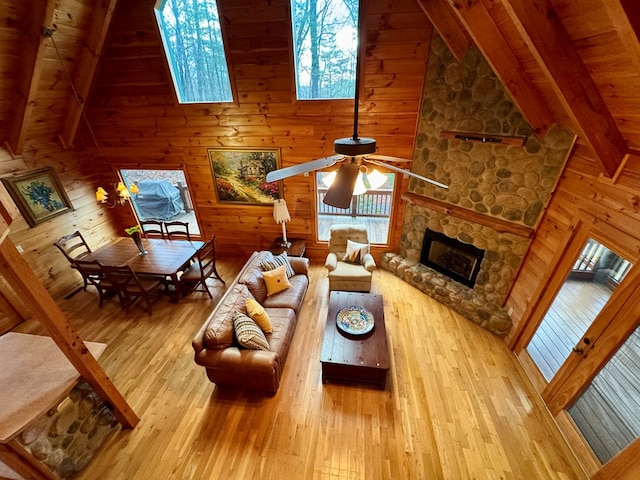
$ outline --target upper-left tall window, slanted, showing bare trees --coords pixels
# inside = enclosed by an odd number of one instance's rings
[[[231,102],[216,0],[160,0],[155,13],[178,101]]]

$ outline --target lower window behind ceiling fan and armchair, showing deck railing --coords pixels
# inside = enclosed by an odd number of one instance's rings
[[[329,240],[331,225],[352,224],[367,227],[371,244],[388,244],[395,174],[380,173],[378,175],[386,177],[380,179],[369,178],[367,175],[358,178],[349,208],[336,208],[322,201],[335,178],[335,173],[335,170],[316,172],[318,241]]]

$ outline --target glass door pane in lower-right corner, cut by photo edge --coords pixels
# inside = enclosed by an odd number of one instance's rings
[[[640,327],[568,409],[602,464],[640,437]]]

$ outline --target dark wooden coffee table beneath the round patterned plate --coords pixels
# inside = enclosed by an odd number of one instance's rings
[[[363,307],[373,314],[375,326],[371,332],[350,335],[337,327],[337,313],[349,306]],[[323,382],[357,382],[385,388],[389,371],[389,348],[382,296],[359,292],[331,292],[320,362]]]

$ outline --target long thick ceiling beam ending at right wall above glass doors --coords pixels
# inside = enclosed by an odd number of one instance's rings
[[[553,5],[548,0],[501,3],[603,173],[612,177],[627,152],[626,142]]]

